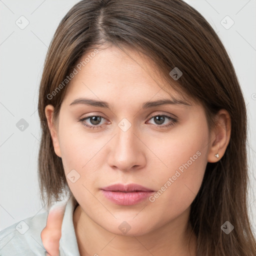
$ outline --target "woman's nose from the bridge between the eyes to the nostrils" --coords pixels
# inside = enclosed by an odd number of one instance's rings
[[[145,163],[143,143],[135,135],[135,125],[123,118],[116,127],[116,133],[108,164],[121,170],[128,170],[134,165],[143,165]]]

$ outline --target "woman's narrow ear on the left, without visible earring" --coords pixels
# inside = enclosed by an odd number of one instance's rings
[[[54,110],[54,107],[52,105],[46,105],[44,109],[44,113],[47,118],[47,123],[50,130],[50,136],[52,139],[54,151],[57,156],[61,157],[59,141],[57,136],[57,129],[56,129],[56,125],[53,122],[53,110]]]

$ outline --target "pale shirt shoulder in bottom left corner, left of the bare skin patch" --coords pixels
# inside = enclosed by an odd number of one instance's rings
[[[18,221],[0,231],[0,255],[44,255],[41,231],[46,225],[48,212]]]

